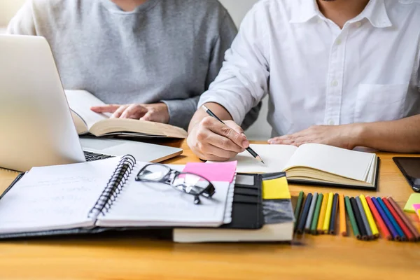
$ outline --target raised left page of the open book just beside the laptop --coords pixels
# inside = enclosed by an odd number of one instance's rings
[[[65,92],[70,109],[84,120],[88,130],[100,120],[109,118],[110,114],[108,113],[94,113],[94,111],[90,110],[92,106],[105,105],[104,102],[94,97],[90,92],[85,90],[66,90]]]

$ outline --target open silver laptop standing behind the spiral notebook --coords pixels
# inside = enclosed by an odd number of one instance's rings
[[[0,167],[27,171],[126,154],[160,162],[182,153],[117,139],[81,139],[81,144],[48,42],[0,35]]]

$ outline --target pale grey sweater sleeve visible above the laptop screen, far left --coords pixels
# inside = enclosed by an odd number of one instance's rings
[[[16,13],[12,20],[10,20],[7,33],[17,35],[36,35],[32,1],[25,1],[22,8],[20,8],[18,13]]]

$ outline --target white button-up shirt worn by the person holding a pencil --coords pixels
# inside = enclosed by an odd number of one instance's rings
[[[370,0],[340,29],[316,0],[261,0],[199,108],[236,123],[269,94],[273,136],[420,113],[420,0]]]

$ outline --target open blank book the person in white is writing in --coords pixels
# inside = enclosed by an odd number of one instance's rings
[[[231,159],[238,161],[237,172],[286,172],[288,180],[293,183],[377,188],[379,158],[374,153],[321,144],[304,144],[299,148],[251,144],[251,148],[261,156],[265,165],[245,151]]]

